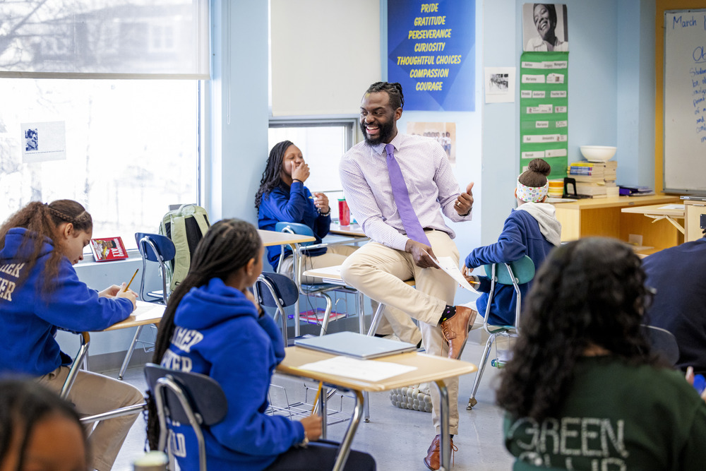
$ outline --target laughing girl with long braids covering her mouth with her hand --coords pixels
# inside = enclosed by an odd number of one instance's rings
[[[275,230],[277,222],[298,222],[313,230],[316,244],[328,234],[331,225],[331,208],[324,193],[311,193],[304,181],[309,178],[309,165],[304,162],[301,150],[291,141],[275,144],[270,151],[260,189],[255,196],[258,210],[258,227]],[[269,246],[268,261],[277,273],[294,279],[292,250],[285,246],[285,257],[280,264],[279,245]],[[341,265],[357,247],[332,245],[308,251],[302,266],[323,268]],[[321,283],[321,278],[305,277],[305,283]]]

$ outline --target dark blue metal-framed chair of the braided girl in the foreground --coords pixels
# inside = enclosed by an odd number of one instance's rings
[[[204,374],[172,370],[153,363],[145,364],[145,379],[157,405],[160,450],[172,458],[172,450],[167,446],[167,417],[172,422],[190,424],[198,441],[199,469],[205,471],[206,447],[201,427],[217,424],[228,412],[228,400],[220,384]]]

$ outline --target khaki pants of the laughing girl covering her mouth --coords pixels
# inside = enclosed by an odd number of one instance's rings
[[[304,272],[313,268],[326,268],[330,266],[343,265],[346,258],[350,254],[357,251],[357,249],[359,249],[359,247],[352,245],[328,246],[326,248],[326,253],[323,255],[315,257],[304,256],[304,263],[301,264],[303,269],[301,271]],[[288,256],[282,260],[282,263],[280,263],[280,266],[277,268],[277,272],[294,279],[294,257]],[[322,283],[322,280],[321,278],[304,276],[301,277],[301,282],[308,285],[313,285]],[[372,304],[374,313],[378,307],[378,302],[373,300]],[[421,332],[419,331],[417,325],[412,322],[412,319],[410,319],[407,314],[399,309],[395,309],[390,306],[385,306],[383,317],[381,318],[376,332],[383,335],[394,333],[397,335],[397,338],[403,342],[409,342],[414,345],[417,345],[419,340],[421,340]]]

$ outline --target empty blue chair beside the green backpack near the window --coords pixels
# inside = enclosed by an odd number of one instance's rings
[[[146,302],[156,302],[158,304],[167,304],[169,292],[167,291],[167,262],[174,260],[177,250],[174,248],[174,243],[169,237],[164,237],[160,234],[150,234],[147,232],[136,232],[135,241],[137,248],[142,256],[142,276],[140,278],[140,299]],[[162,290],[150,291],[145,293],[145,273],[147,272],[147,262],[157,262],[160,265],[160,275],[162,276]],[[123,364],[118,372],[118,379],[122,379],[125,370],[128,368],[130,359],[132,358],[133,350],[137,342],[147,345],[153,345],[152,342],[143,342],[139,340],[140,334],[144,326],[138,326],[133,335],[133,340],[128,347],[128,351],[123,359]]]

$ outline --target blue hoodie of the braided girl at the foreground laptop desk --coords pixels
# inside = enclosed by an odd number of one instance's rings
[[[304,440],[300,422],[265,414],[270,379],[284,358],[282,335],[272,318],[258,318],[253,303],[220,278],[181,299],[162,366],[208,375],[228,398],[225,419],[203,430],[209,470],[263,470]],[[179,467],[198,469],[191,427],[172,424],[172,431],[185,436],[186,450],[175,453]],[[179,439],[174,443],[179,446]]]

